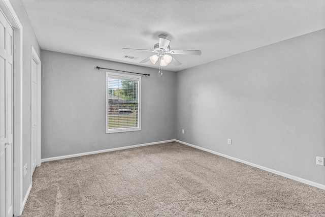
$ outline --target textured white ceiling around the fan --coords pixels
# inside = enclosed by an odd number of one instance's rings
[[[22,0],[42,49],[139,62],[166,33],[180,71],[325,28],[325,0]],[[139,59],[126,59],[132,55]]]

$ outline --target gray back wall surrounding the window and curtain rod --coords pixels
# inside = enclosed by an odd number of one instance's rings
[[[106,71],[142,76],[141,131],[105,133]],[[174,72],[42,50],[42,159],[175,138]]]

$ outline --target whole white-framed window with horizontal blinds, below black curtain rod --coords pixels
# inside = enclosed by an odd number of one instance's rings
[[[141,77],[106,72],[106,133],[141,130]]]

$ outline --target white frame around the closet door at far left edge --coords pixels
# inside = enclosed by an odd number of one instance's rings
[[[0,9],[14,29],[14,142],[13,142],[13,213],[19,216],[22,213],[22,54],[23,54],[23,28],[9,0],[0,0]]]

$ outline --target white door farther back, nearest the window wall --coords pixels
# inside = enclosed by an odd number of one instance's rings
[[[35,59],[32,59],[31,70],[31,174],[34,172],[37,166],[37,63]]]

